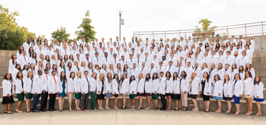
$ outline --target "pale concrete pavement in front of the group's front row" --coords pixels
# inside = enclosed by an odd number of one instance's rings
[[[160,111],[160,110],[85,110],[40,113],[0,113],[2,125],[65,125],[65,124],[108,124],[108,125],[256,125],[265,124],[265,116],[246,116],[203,111]],[[33,122],[36,121],[36,122]]]

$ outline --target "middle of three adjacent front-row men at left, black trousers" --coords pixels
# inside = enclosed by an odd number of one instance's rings
[[[41,112],[46,112],[46,104],[47,104],[47,98],[48,98],[48,73],[49,70],[46,68],[44,69],[44,74],[41,76],[41,83],[40,87],[42,90],[42,98],[41,98]]]

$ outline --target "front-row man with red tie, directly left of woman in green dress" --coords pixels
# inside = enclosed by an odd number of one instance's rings
[[[52,71],[52,76],[48,78],[48,93],[49,93],[49,109],[48,111],[56,111],[54,108],[55,98],[56,98],[56,79],[55,77],[56,72]]]

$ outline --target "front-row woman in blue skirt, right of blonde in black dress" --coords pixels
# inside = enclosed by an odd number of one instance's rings
[[[105,79],[105,109],[111,109],[108,107],[109,99],[112,97],[112,74],[109,72],[107,73],[107,77]]]

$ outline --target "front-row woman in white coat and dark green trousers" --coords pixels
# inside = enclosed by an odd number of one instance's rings
[[[95,103],[96,103],[96,88],[97,88],[97,73],[93,72],[91,73],[92,75],[90,76],[90,109],[95,108]]]

